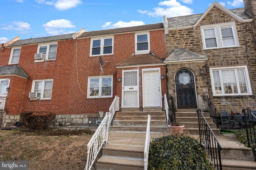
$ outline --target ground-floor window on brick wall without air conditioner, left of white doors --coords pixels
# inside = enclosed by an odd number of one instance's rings
[[[88,78],[88,98],[112,97],[112,76],[98,76]]]

